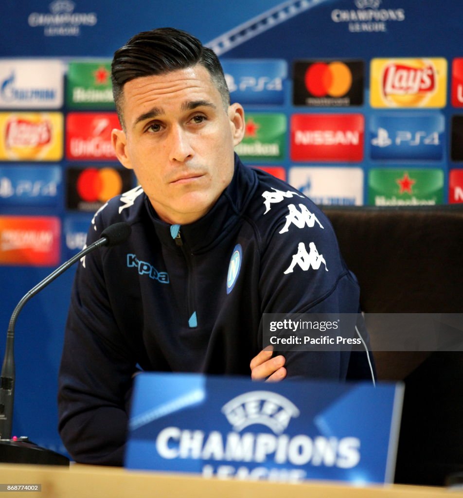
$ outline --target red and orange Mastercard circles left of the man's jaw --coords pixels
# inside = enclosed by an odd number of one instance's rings
[[[77,193],[87,202],[106,202],[122,192],[122,179],[114,168],[88,168],[77,178]]]

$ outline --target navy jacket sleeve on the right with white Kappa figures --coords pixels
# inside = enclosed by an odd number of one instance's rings
[[[278,210],[279,217],[264,244],[262,313],[358,313],[358,283],[343,261],[329,220],[310,201],[303,201],[304,207],[301,204]],[[365,328],[358,326],[368,344]],[[366,351],[275,351],[278,353],[286,359],[287,378],[371,380]]]

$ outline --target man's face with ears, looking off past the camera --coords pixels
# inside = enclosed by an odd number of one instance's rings
[[[134,170],[158,216],[171,224],[204,216],[232,180],[242,107],[225,109],[209,72],[196,65],[127,82],[121,110],[117,157]]]

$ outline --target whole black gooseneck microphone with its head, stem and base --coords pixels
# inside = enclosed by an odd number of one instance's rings
[[[14,326],[16,324],[16,319],[19,312],[23,308],[24,304],[37,292],[44,289],[49,283],[53,282],[61,273],[64,273],[70,266],[72,266],[76,261],[87,255],[89,252],[94,251],[103,246],[113,247],[118,244],[125,242],[131,232],[130,225],[127,223],[115,223],[110,225],[108,228],[103,230],[101,233],[101,238],[90,244],[90,246],[82,249],[79,253],[73,256],[71,259],[63,263],[59,268],[56,268],[50,275],[45,277],[40,283],[33,287],[14,308],[8,325],[8,331],[6,333],[6,347],[5,355],[3,357],[3,365],[1,368],[0,377],[0,462],[13,462],[13,463],[38,463],[45,465],[69,465],[69,460],[63,455],[40,448],[33,443],[30,443],[27,438],[20,438],[20,440],[11,439],[11,429],[12,429],[12,418],[13,418],[13,400],[14,400]],[[8,451],[4,451],[5,448],[2,445],[8,445]],[[28,456],[28,447],[32,450],[40,450],[44,452],[43,455],[38,456],[37,451],[33,451]],[[15,450],[15,448],[19,448]],[[67,462],[57,462],[53,461],[53,455],[46,456],[45,453],[56,455],[65,459]],[[37,461],[40,460],[40,461]],[[42,461],[43,460],[43,461]],[[50,461],[52,460],[52,461]],[[58,459],[60,460],[60,459]]]

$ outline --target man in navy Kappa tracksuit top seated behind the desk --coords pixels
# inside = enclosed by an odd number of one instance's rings
[[[262,350],[263,313],[356,313],[359,289],[328,219],[234,155],[244,113],[220,63],[171,28],[116,51],[120,162],[139,187],[95,215],[124,244],[79,264],[59,377],[59,429],[79,462],[121,465],[134,373],[371,378],[367,353]],[[367,341],[367,337],[364,337]]]

